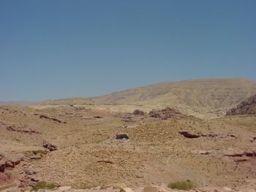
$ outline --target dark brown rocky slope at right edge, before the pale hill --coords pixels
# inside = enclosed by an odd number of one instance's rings
[[[228,110],[226,115],[254,115],[256,114],[256,94],[238,104],[237,107]]]

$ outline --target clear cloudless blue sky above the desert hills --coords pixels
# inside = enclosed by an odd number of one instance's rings
[[[255,10],[255,0],[0,0],[0,100],[256,80]]]

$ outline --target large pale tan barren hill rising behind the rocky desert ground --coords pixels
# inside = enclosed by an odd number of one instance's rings
[[[39,104],[121,105],[121,110],[128,107],[130,110],[140,108],[146,111],[173,107],[187,115],[216,117],[225,115],[231,107],[255,93],[256,82],[252,80],[202,79],[161,82],[105,96],[48,100]]]

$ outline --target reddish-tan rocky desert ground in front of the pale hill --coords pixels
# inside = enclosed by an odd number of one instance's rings
[[[197,191],[256,188],[255,115],[1,106],[0,130],[2,191],[31,191],[39,181],[74,190],[182,180]]]

